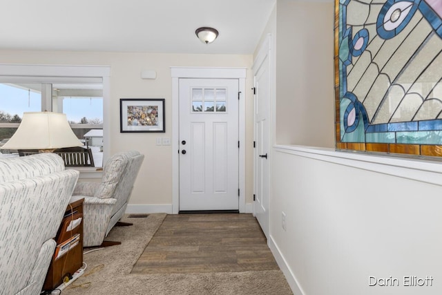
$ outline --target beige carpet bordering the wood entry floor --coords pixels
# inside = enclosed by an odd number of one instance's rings
[[[131,274],[166,214],[124,218],[131,227],[115,227],[106,240],[122,245],[84,255],[84,275],[63,290],[66,295],[108,294],[292,294],[280,270],[204,274]],[[87,251],[87,250],[86,250]]]

